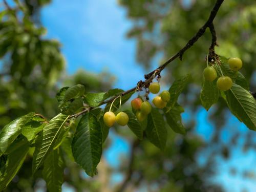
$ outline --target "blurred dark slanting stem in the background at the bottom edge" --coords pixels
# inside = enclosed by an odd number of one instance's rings
[[[127,170],[125,179],[123,180],[120,187],[116,190],[116,192],[123,191],[126,188],[127,184],[130,182],[130,180],[132,179],[135,150],[139,146],[139,143],[140,143],[140,140],[138,140],[138,139],[133,142],[131,156],[130,156],[130,160],[129,160],[129,166],[128,166],[128,170]]]

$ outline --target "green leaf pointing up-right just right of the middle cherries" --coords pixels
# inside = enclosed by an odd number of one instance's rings
[[[178,100],[179,95],[186,87],[190,75],[186,75],[180,79],[174,81],[173,85],[169,89],[170,100],[166,104],[166,108],[172,108]]]

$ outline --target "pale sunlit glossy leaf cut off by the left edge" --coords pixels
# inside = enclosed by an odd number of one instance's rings
[[[0,132],[0,151],[5,153],[7,147],[22,133],[22,126],[24,126],[35,113],[29,113],[22,117],[19,117],[9,124],[5,125]]]

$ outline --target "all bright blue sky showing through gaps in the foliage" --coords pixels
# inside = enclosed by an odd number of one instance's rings
[[[135,61],[136,42],[125,38],[131,22],[116,0],[73,0],[72,3],[70,0],[53,0],[42,10],[41,16],[42,24],[48,29],[47,37],[58,39],[63,45],[62,53],[67,60],[69,74],[78,69],[93,73],[107,70],[117,78],[115,87],[124,90],[134,87],[143,79],[146,71]],[[186,116],[189,113],[184,114]],[[198,134],[207,140],[214,127],[207,121],[205,110],[198,111],[197,121]],[[236,118],[231,118],[228,123],[238,124],[242,132],[247,130]],[[223,135],[225,139],[225,133]],[[118,166],[118,155],[129,152],[129,143],[114,133],[111,133],[111,137],[114,139],[112,147],[105,151],[104,156],[111,166]],[[250,168],[255,162],[253,153],[249,151],[243,154],[240,148],[236,148],[231,160],[218,159],[221,172],[216,182],[221,182],[227,191],[236,192],[244,188],[248,192],[256,191],[255,181],[242,179],[239,175],[231,177],[229,174],[232,166],[241,165],[239,170]],[[116,177],[118,180],[121,176]]]

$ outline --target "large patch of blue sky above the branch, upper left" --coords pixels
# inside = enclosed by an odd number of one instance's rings
[[[143,77],[135,62],[135,40],[125,39],[131,24],[115,0],[54,0],[42,11],[48,37],[62,43],[69,74],[78,69],[115,74],[116,87],[129,89]],[[129,81],[127,81],[129,79]]]

